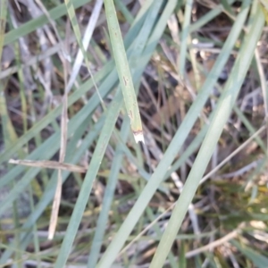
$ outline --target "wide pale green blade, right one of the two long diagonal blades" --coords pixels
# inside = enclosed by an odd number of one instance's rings
[[[249,2],[246,3],[247,6],[249,4]],[[247,8],[244,11],[247,13]],[[221,136],[223,127],[229,118],[233,105],[235,104],[236,97],[239,94],[239,88],[245,80],[247,70],[255,52],[256,43],[262,33],[263,27],[264,14],[259,10],[258,14],[255,16],[255,21],[253,22],[250,32],[243,42],[239,57],[233,67],[232,75],[224,88],[216,107],[214,118],[205,136],[205,140],[188,175],[188,179],[180,194],[180,198],[174,207],[172,217],[163,233],[163,237],[156,249],[150,267],[163,267],[165,258],[172,247],[174,237],[178,233],[180,224],[187,213],[188,205],[195,195],[199,181],[202,179],[205,172],[206,165],[214,153],[214,147]]]

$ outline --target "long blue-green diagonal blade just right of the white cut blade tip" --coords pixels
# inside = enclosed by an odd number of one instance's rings
[[[158,22],[159,24],[165,23],[170,17],[175,5],[176,1],[169,1],[166,10],[163,11],[163,17]],[[205,105],[205,101],[209,96],[214,84],[216,83],[218,77],[220,76],[222,69],[225,63],[228,60],[231,49],[234,46],[237,38],[239,37],[240,30],[244,26],[244,21],[247,18],[247,11],[243,13],[239,13],[237,21],[235,22],[235,26],[231,29],[230,35],[227,38],[223,48],[222,53],[218,56],[216,63],[214,63],[214,68],[208,75],[207,79],[203,87],[200,89],[200,93],[197,96],[195,103],[190,107],[184,121],[180,124],[180,129],[177,130],[176,135],[172,139],[170,146],[168,147],[163,159],[158,164],[154,174],[151,179],[148,181],[147,186],[144,188],[143,192],[138,197],[136,204],[132,207],[130,214],[126,218],[126,220],[122,223],[121,229],[117,232],[113,241],[106,249],[105,254],[103,255],[101,261],[98,264],[99,267],[107,267],[108,265],[113,263],[116,255],[123,247],[124,242],[129,237],[131,230],[135,227],[136,222],[138,222],[139,216],[145,210],[148,202],[151,197],[153,197],[156,188],[163,180],[163,176],[165,172],[169,169],[174,157],[180,151],[181,146],[183,145],[185,139],[188,137],[188,133],[194,125],[195,121],[197,121],[197,116]],[[163,21],[161,21],[163,20]],[[158,40],[157,36],[162,34],[160,30],[161,26],[156,25],[155,31],[148,42],[147,49],[144,54],[147,54],[147,50],[154,49],[153,44],[155,44],[156,40]]]

